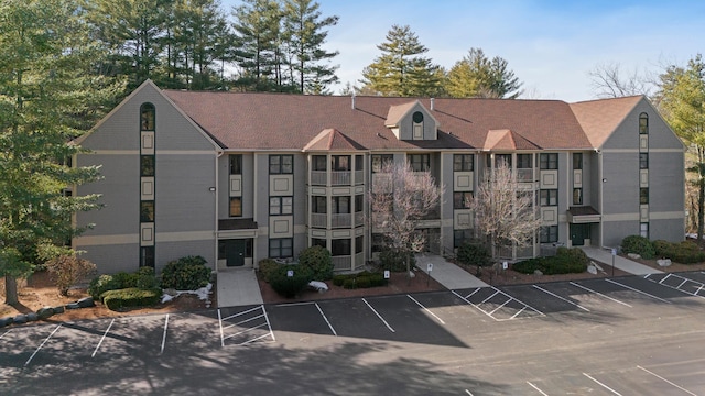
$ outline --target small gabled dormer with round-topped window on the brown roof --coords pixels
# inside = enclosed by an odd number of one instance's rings
[[[384,127],[389,128],[399,140],[438,139],[438,121],[419,100],[390,106]]]

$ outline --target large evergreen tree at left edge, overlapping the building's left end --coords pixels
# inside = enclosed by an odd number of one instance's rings
[[[32,271],[43,244],[79,230],[72,213],[95,196],[66,194],[95,180],[97,167],[69,167],[72,144],[111,108],[122,87],[95,74],[104,58],[89,38],[76,0],[0,3],[0,275],[6,302],[18,301],[15,278]]]

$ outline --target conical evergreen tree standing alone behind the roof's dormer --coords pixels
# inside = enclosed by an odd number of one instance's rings
[[[392,25],[387,42],[377,46],[382,55],[362,70],[364,89],[383,96],[436,96],[441,90],[438,66],[422,54],[429,50],[411,29]]]

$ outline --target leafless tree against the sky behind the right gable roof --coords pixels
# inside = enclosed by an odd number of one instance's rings
[[[587,73],[592,80],[595,96],[598,98],[621,98],[634,95],[650,96],[653,88],[648,76],[633,73],[625,73],[618,63],[598,64]]]

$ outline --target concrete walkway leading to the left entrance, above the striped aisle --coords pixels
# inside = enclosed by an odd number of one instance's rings
[[[218,270],[218,308],[263,304],[252,268]]]

